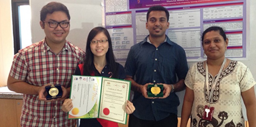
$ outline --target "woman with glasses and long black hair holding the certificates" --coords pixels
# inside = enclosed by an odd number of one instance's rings
[[[106,28],[93,28],[87,38],[86,56],[84,63],[79,64],[74,75],[104,76],[124,79],[124,67],[115,61],[110,35]],[[69,112],[73,108],[71,99],[66,99],[62,105],[62,110]],[[125,108],[131,114],[135,107],[127,101]],[[79,127],[118,127],[116,122],[97,119],[81,119]]]

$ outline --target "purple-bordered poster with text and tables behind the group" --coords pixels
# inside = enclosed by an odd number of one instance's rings
[[[246,0],[105,0],[105,27],[110,32],[116,59],[125,61],[132,45],[148,34],[146,13],[161,5],[169,11],[166,35],[182,46],[187,61],[205,59],[202,32],[211,26],[224,29],[227,58],[246,58]]]

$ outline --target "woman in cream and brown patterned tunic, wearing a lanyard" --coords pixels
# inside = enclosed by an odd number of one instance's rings
[[[181,127],[189,117],[191,127],[244,126],[241,96],[249,125],[256,127],[255,80],[249,68],[225,58],[228,38],[220,27],[206,29],[202,45],[207,60],[194,63],[186,75]]]

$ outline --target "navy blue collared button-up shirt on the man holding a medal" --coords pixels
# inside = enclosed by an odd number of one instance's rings
[[[147,41],[148,36],[131,47],[125,63],[125,74],[132,76],[138,84],[164,83],[175,84],[185,79],[188,71],[186,54],[183,48],[167,36],[157,48]],[[178,79],[177,79],[178,78]],[[178,96],[171,93],[165,99],[146,99],[135,91],[132,100],[136,110],[133,115],[143,120],[162,120],[177,114],[180,104]]]

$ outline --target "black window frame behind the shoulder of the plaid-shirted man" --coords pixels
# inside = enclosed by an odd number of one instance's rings
[[[21,49],[19,21],[19,6],[21,5],[29,5],[29,0],[11,0],[14,54]]]

